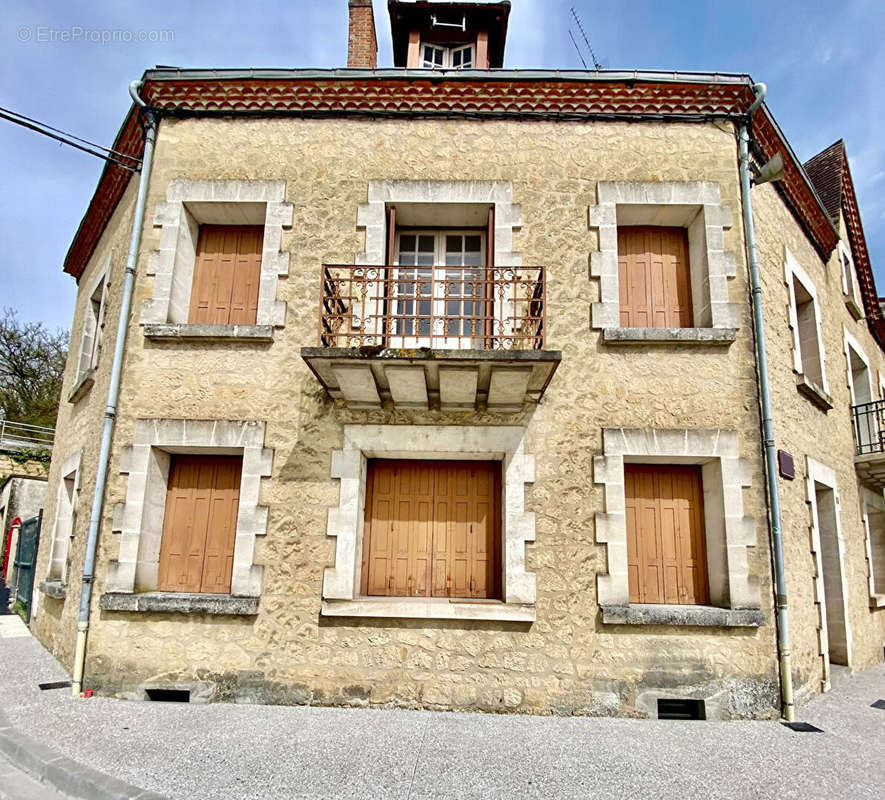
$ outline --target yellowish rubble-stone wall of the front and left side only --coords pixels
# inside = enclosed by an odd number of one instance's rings
[[[733,132],[702,124],[557,124],[552,122],[164,120],[160,126],[139,259],[134,309],[154,294],[145,266],[160,249],[152,221],[176,180],[284,181],[292,206],[282,232],[288,275],[276,300],[285,326],[273,342],[150,341],[130,322],[119,417],[99,545],[89,639],[87,685],[141,696],[153,683],[203,686],[216,699],[396,704],[537,713],[653,714],[654,698],[696,696],[711,716],[770,716],[777,708],[764,481],[746,266],[740,225],[723,230],[723,252],[735,254],[728,299],[737,306],[730,346],[680,343],[618,348],[590,324],[600,300],[590,254],[598,233],[588,209],[599,181],[716,184],[738,218],[740,197]],[[513,251],[524,264],[547,267],[547,342],[563,360],[542,403],[519,413],[352,411],[326,396],[299,357],[316,345],[319,270],[367,252],[359,225],[372,181],[506,181],[521,207]],[[128,236],[124,220],[134,183],[102,239],[94,263]],[[90,266],[90,269],[92,266]],[[120,273],[114,261],[111,305],[116,319]],[[783,270],[780,270],[780,275]],[[84,276],[84,280],[88,278]],[[782,278],[781,278],[782,280]],[[78,315],[81,303],[78,301]],[[75,318],[75,326],[77,319]],[[112,330],[106,330],[106,335]],[[106,347],[112,346],[108,339]],[[81,508],[94,480],[97,431],[106,384],[82,406],[64,409],[64,446],[87,442]],[[795,392],[795,389],[793,390]],[[170,413],[174,409],[174,414]],[[171,416],[266,423],[274,453],[261,481],[267,534],[255,542],[263,565],[254,617],[99,610],[108,564],[119,560],[111,509],[126,501],[121,455],[139,419]],[[534,483],[525,510],[535,518],[526,571],[535,578],[536,621],[328,618],[320,614],[323,576],[335,567],[328,510],[339,504],[332,453],[345,425],[506,425],[525,428]],[[605,625],[597,574],[606,572],[595,515],[603,487],[594,457],[606,428],[727,430],[748,480],[736,484],[745,526],[746,574],[758,584],[764,623],[752,628]],[[55,464],[53,465],[55,468]],[[54,497],[53,472],[49,496]],[[748,485],[745,485],[748,484]],[[82,565],[86,517],[78,519]],[[755,531],[755,533],[753,533]],[[45,569],[41,553],[42,569]],[[72,568],[76,573],[76,567]],[[61,601],[43,599],[36,631],[70,663],[79,588]],[[55,603],[55,605],[51,605]]]

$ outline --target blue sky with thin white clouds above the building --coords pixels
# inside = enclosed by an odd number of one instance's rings
[[[749,73],[805,161],[844,139],[879,294],[885,295],[885,2],[512,0],[505,67],[580,69],[574,6],[607,69]],[[379,66],[392,66],[375,0]],[[157,64],[342,67],[347,0],[6,0],[0,106],[113,143],[128,85]],[[104,162],[0,119],[0,306],[69,328],[62,272]]]

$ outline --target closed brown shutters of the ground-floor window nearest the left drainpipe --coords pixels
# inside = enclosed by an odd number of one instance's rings
[[[157,588],[230,592],[242,459],[173,456]]]

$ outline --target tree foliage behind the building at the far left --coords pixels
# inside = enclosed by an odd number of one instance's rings
[[[11,308],[0,317],[0,418],[55,426],[68,333],[42,322],[19,322]]]

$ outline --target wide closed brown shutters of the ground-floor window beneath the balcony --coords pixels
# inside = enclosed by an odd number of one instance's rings
[[[499,597],[500,496],[498,462],[371,461],[363,594]]]

